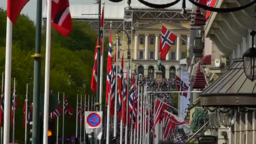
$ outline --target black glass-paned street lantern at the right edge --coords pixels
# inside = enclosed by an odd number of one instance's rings
[[[254,48],[255,34],[256,32],[254,30],[250,32],[250,35],[252,36],[252,47],[243,54],[243,69],[246,77],[251,81],[256,79],[256,48]]]

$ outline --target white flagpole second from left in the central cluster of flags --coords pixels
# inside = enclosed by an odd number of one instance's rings
[[[117,136],[117,67],[118,67],[118,37],[117,37],[117,43],[116,43],[116,64],[115,64],[115,114],[114,114],[114,137]]]

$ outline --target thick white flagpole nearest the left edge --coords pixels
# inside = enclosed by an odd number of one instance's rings
[[[5,99],[3,120],[3,143],[8,144],[10,132],[10,102],[11,102],[11,48],[12,48],[12,22],[7,17],[6,22],[6,48],[5,48]]]

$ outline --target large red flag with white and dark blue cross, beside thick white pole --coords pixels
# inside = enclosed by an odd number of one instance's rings
[[[69,0],[52,0],[51,11],[51,24],[61,35],[67,37],[72,31]]]

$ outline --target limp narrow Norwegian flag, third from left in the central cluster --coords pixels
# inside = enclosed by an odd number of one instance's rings
[[[120,69],[120,75],[119,75],[119,81],[118,81],[118,88],[117,88],[117,112],[118,112],[118,118],[121,119],[122,117],[122,101],[123,101],[123,56],[122,56],[122,62],[121,62],[121,69]]]

